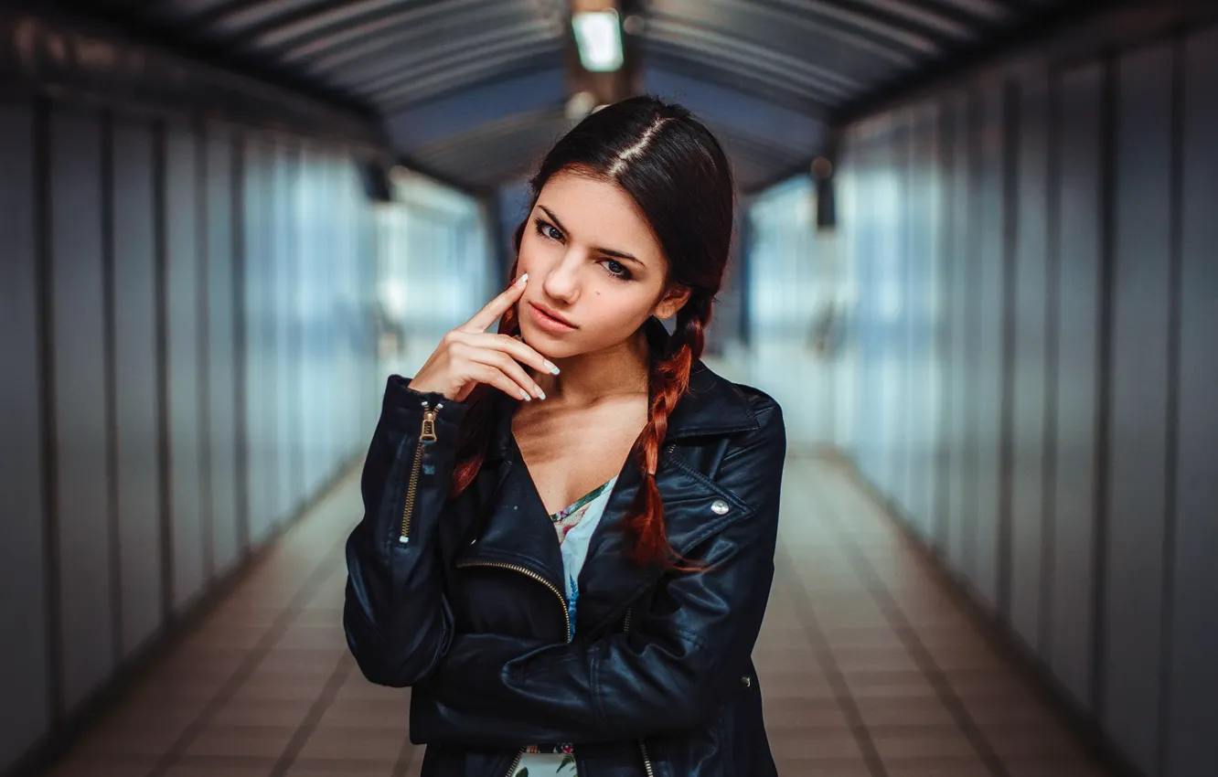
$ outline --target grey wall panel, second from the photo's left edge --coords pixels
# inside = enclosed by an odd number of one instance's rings
[[[73,709],[116,658],[100,117],[55,107],[50,144],[58,613]]]

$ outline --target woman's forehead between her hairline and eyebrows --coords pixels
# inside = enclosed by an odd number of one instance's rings
[[[570,172],[558,173],[542,188],[537,205],[563,222],[570,240],[625,251],[644,261],[663,258],[647,217],[614,183]]]

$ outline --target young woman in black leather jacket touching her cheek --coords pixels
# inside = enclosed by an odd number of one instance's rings
[[[698,359],[727,160],[639,97],[532,184],[514,283],[389,380],[347,543],[351,650],[413,687],[424,777],[775,775],[750,654],[786,431]]]

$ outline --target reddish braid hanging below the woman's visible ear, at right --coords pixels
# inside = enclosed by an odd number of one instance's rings
[[[710,311],[709,297],[691,301],[681,308],[666,353],[653,359],[650,365],[647,425],[636,443],[636,460],[643,473],[643,485],[627,520],[627,526],[635,535],[635,559],[643,564],[658,563],[665,568],[677,568],[664,529],[664,501],[655,483],[655,470],[659,466],[660,446],[669,430],[669,415],[689,387],[693,360],[702,356],[703,332],[710,323]]]

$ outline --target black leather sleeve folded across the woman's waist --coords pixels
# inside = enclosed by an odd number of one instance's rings
[[[786,455],[781,408],[728,452],[716,480],[754,505],[693,553],[713,569],[672,572],[628,633],[560,645],[458,636],[415,688],[415,743],[519,747],[611,742],[697,726],[738,688],[773,580]]]

